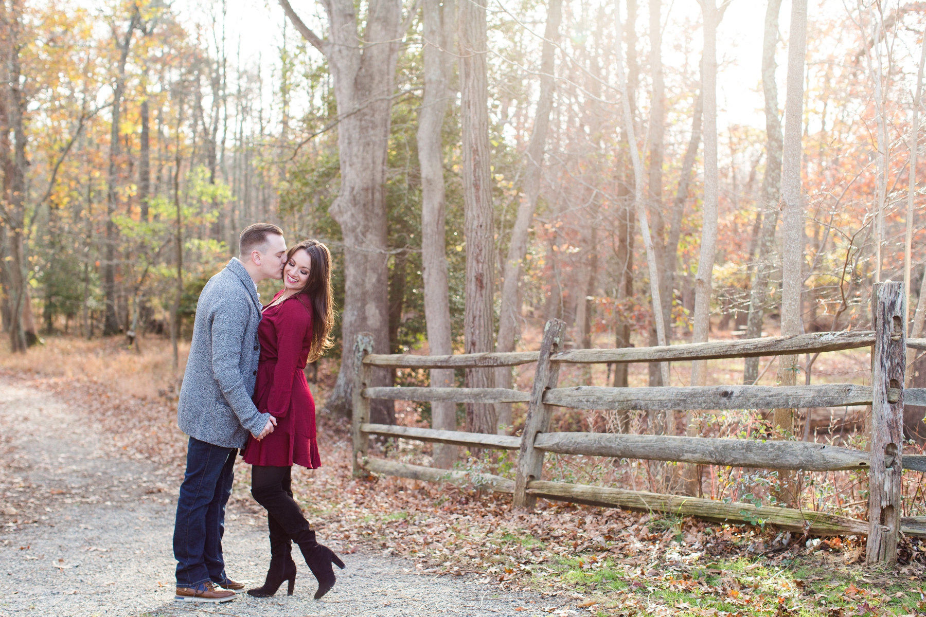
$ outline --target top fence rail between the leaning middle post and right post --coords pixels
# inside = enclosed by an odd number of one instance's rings
[[[926,341],[926,339],[922,339]],[[666,362],[669,360],[720,360],[763,355],[838,352],[870,347],[874,332],[815,332],[768,339],[717,340],[663,347],[620,347],[618,349],[569,350],[550,357],[551,362],[602,364],[619,362]],[[924,346],[923,349],[926,349]]]

